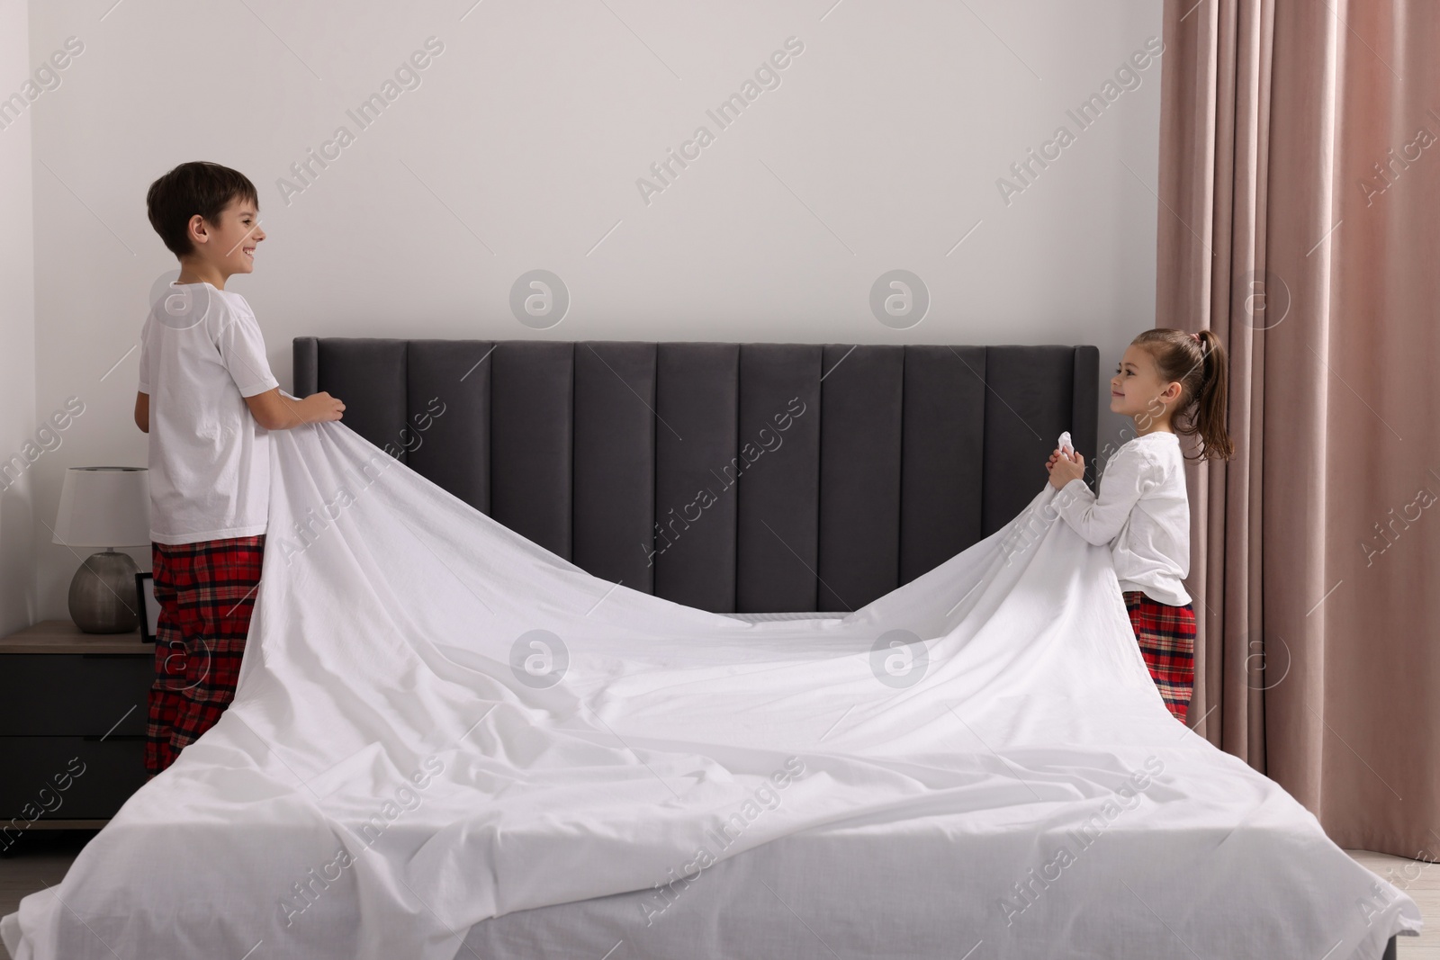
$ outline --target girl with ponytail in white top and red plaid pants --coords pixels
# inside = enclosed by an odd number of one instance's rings
[[[1146,330],[1130,341],[1110,380],[1110,410],[1135,420],[1136,436],[1106,463],[1096,497],[1084,458],[1057,449],[1045,469],[1066,522],[1093,544],[1110,544],[1115,573],[1145,665],[1185,723],[1195,679],[1195,607],[1189,573],[1189,501],[1176,433],[1200,435],[1197,459],[1228,461],[1225,348],[1208,330]]]

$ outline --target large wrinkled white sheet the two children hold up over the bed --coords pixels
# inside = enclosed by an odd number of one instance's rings
[[[942,813],[975,868],[916,897],[973,915],[986,957],[1369,959],[1420,928],[1169,715],[1109,550],[1050,486],[850,616],[747,623],[592,577],[340,423],[272,440],[235,702],[4,918],[17,960],[451,960],[487,917],[652,888],[701,849]],[[1115,892],[1128,865],[1145,908]]]

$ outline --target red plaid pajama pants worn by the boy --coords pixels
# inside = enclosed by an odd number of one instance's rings
[[[235,698],[264,553],[265,534],[151,544],[160,606],[145,730],[151,777],[213,727]]]

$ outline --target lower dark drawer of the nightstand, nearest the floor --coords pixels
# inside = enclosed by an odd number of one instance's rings
[[[0,737],[0,829],[108,819],[145,783],[145,740]]]

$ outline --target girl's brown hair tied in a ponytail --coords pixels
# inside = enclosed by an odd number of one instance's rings
[[[1184,330],[1159,327],[1146,330],[1130,341],[1155,358],[1161,383],[1178,381],[1182,387],[1175,404],[1172,426],[1185,436],[1200,435],[1197,459],[1228,461],[1234,456],[1230,433],[1225,432],[1228,410],[1227,384],[1230,360],[1225,347],[1210,330],[1200,331],[1200,340]]]

